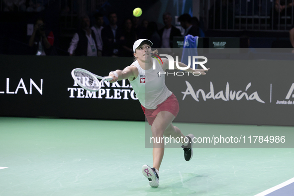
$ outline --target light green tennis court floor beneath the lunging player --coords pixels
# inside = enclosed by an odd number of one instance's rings
[[[8,167],[0,196],[254,196],[294,177],[293,149],[194,149],[186,162],[179,148],[165,150],[151,188],[141,172],[152,166],[144,137],[143,121],[0,117],[0,167]]]

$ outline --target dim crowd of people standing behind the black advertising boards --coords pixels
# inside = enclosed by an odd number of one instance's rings
[[[193,36],[204,37],[203,30],[199,28],[199,21],[185,13],[178,18],[184,31],[172,25],[171,13],[163,14],[164,27],[158,29],[157,23],[146,18],[132,16],[125,18],[123,24],[117,24],[117,14],[111,12],[107,15],[108,25],[104,24],[104,15],[95,14],[95,20],[91,24],[88,15],[81,16],[81,28],[74,34],[68,46],[70,56],[111,56],[132,57],[133,43],[137,39],[149,39],[153,42],[153,48],[173,48],[173,37]],[[34,24],[33,34],[29,46],[35,48],[36,55],[54,55],[54,34],[50,30],[42,28],[45,22],[38,18]]]

